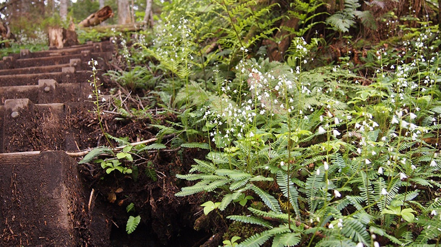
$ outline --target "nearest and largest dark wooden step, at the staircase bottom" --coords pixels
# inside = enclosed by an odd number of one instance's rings
[[[0,154],[0,246],[79,246],[88,199],[62,151]]]

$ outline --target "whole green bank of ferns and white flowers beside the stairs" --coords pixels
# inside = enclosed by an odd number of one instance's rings
[[[302,34],[324,23],[344,33],[369,14],[357,4],[326,22],[308,18],[320,1],[286,14],[304,14]],[[151,119],[158,139],[207,152],[176,175],[188,181],[176,196],[208,193],[207,214],[259,226],[225,246],[439,246],[438,27],[421,22],[409,39],[367,51],[362,68],[350,42],[336,63],[317,66],[320,37],[293,38],[286,62],[271,62],[262,42],[284,14],[256,1],[177,0],[165,4],[158,39],[123,42],[128,69],[109,74],[146,91],[145,113],[176,116]]]

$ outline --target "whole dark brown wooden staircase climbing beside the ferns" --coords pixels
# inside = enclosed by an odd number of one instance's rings
[[[88,62],[105,71],[113,49],[88,42],[0,61],[0,246],[107,245],[109,236],[88,242],[93,224],[108,223],[92,219],[77,163],[64,151],[84,141],[86,126],[69,120],[93,109]]]

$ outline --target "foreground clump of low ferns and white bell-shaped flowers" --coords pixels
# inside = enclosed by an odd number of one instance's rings
[[[381,69],[368,86],[343,66],[303,71],[301,40],[291,49],[294,68],[242,60],[234,80],[217,79],[220,101],[204,106],[210,152],[177,175],[196,183],[176,196],[215,193],[221,211],[239,197],[260,198],[264,206],[226,217],[261,226],[238,246],[270,239],[273,246],[437,246],[440,76],[429,40],[424,33],[416,49],[378,51]]]

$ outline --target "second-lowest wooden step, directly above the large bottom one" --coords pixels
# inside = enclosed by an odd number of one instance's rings
[[[36,150],[35,147],[40,150],[77,151],[77,145],[88,141],[81,139],[78,133],[87,126],[72,125],[69,116],[84,114],[78,109],[85,106],[92,109],[91,103],[85,102],[34,104],[29,99],[5,100],[4,106],[0,107],[0,112],[3,112],[0,151],[27,152]]]

